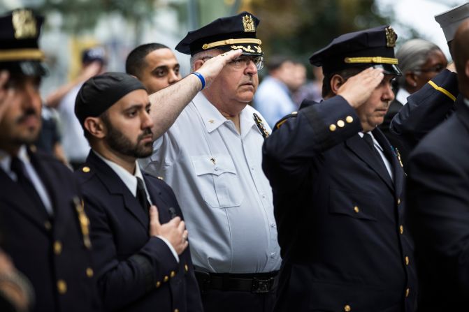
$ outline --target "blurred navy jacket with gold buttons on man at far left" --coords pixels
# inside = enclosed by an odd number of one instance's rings
[[[83,236],[87,224],[73,173],[52,156],[32,151],[28,154],[48,191],[54,215],[50,217],[37,207],[0,169],[4,249],[34,286],[33,311],[94,311],[94,272]]]

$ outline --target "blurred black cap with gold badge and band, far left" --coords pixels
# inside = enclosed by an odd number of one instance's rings
[[[24,75],[45,75],[38,38],[43,17],[20,8],[0,17],[0,69]]]

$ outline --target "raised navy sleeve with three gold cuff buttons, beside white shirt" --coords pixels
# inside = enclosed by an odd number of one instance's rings
[[[264,142],[262,167],[270,184],[277,191],[294,190],[308,175],[311,158],[359,131],[359,118],[342,96],[301,109]]]

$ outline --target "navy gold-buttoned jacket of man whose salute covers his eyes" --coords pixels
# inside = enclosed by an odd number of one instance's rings
[[[275,311],[414,311],[403,169],[375,129],[391,181],[359,131],[355,111],[335,96],[302,108],[264,142],[284,260]]]

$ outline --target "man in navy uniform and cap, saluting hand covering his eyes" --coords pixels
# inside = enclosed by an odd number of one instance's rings
[[[404,172],[376,128],[401,75],[396,38],[375,27],[315,52],[325,101],[303,101],[264,143],[283,258],[275,311],[416,307]]]

